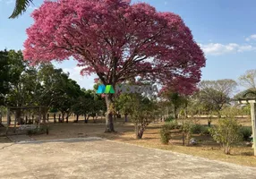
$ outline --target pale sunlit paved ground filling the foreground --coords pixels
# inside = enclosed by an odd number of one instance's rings
[[[256,168],[98,138],[0,144],[0,178],[256,178]]]

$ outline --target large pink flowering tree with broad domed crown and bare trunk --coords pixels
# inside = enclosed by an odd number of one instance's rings
[[[24,57],[32,64],[73,57],[82,75],[115,87],[134,77],[191,93],[205,57],[175,13],[122,0],[46,1],[32,13]],[[106,95],[106,132],[114,131],[113,95]]]

